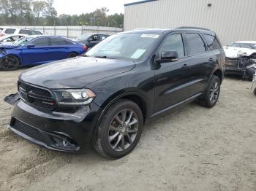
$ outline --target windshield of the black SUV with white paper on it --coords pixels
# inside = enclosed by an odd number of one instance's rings
[[[136,60],[151,50],[158,37],[157,34],[116,34],[97,44],[86,55]]]

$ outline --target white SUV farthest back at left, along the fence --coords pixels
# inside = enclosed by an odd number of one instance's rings
[[[40,31],[34,31],[30,29],[23,29],[23,28],[0,28],[1,34],[0,36],[4,35],[15,35],[15,34],[26,34],[26,35],[42,35]]]

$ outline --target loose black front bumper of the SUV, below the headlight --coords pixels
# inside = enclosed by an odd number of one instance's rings
[[[78,120],[75,114],[39,111],[20,99],[8,128],[42,147],[76,152],[90,143],[97,123],[95,116],[99,107],[96,104],[83,107],[81,112],[86,112],[85,117]]]

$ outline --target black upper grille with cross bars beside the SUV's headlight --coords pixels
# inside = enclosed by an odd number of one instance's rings
[[[53,110],[56,107],[56,101],[48,90],[18,82],[18,91],[20,97],[31,105],[47,110]]]

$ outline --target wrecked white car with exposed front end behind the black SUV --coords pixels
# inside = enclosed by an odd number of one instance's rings
[[[252,80],[256,70],[256,41],[233,42],[223,50],[226,54],[225,74],[241,74]]]

